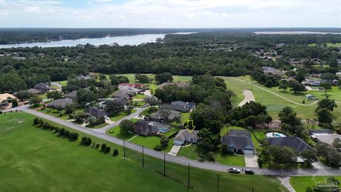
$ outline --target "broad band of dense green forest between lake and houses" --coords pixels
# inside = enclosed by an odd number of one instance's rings
[[[291,58],[318,58],[326,65],[334,63],[333,68],[305,65],[307,73],[336,73],[340,48],[328,47],[325,43],[337,42],[341,42],[341,35],[256,35],[232,30],[169,34],[162,42],[140,46],[3,48],[0,49],[0,92],[15,92],[38,82],[67,80],[72,74],[90,72],[248,75],[261,66],[293,68]],[[285,46],[277,46],[278,43]],[[317,46],[308,46],[308,43],[317,43]],[[281,58],[264,60],[255,54],[259,51],[277,52]]]

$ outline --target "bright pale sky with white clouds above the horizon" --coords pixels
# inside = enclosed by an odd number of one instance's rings
[[[341,27],[341,0],[0,0],[0,28]]]

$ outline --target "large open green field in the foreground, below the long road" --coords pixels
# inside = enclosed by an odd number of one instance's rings
[[[126,150],[125,160],[121,146],[92,137],[93,142],[119,149],[116,157],[102,154],[81,146],[80,139],[69,142],[33,127],[34,118],[26,113],[0,115],[1,191],[193,191],[185,186],[186,166],[167,162],[163,177],[156,172],[163,170],[161,160],[145,156],[142,168],[141,154],[135,151]],[[89,137],[80,133],[84,136]],[[191,186],[200,191],[217,191],[216,182],[217,172],[190,169]],[[220,191],[251,191],[252,187],[255,192],[287,191],[271,177],[220,173]]]

